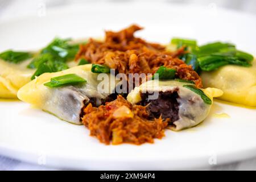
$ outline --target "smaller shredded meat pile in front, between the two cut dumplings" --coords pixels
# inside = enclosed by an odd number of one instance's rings
[[[110,144],[153,143],[154,138],[164,136],[164,128],[168,119],[162,118],[149,120],[146,107],[131,105],[122,96],[107,102],[106,105],[93,107],[89,104],[84,109],[82,123],[90,130],[90,135],[97,137],[100,142]]]

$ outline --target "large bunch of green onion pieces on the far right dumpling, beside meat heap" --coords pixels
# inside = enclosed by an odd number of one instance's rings
[[[171,42],[177,47],[190,47],[190,52],[180,55],[179,58],[186,64],[192,65],[197,73],[200,73],[200,69],[213,71],[228,64],[250,67],[254,59],[252,55],[238,51],[236,46],[230,43],[213,42],[197,47],[195,40],[172,39]]]

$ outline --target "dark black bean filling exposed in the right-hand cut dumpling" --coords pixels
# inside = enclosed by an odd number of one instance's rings
[[[150,113],[150,118],[162,119],[170,118],[171,122],[175,122],[179,119],[179,103],[177,98],[177,90],[168,92],[159,92],[159,97],[156,100],[149,100],[149,93],[141,93],[142,101],[139,103],[142,106],[147,106],[147,110]]]

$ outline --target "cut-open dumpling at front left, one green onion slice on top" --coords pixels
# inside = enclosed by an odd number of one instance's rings
[[[64,121],[81,124],[80,114],[86,104],[93,102],[96,106],[101,105],[101,102],[114,92],[114,86],[111,85],[105,93],[98,91],[101,80],[97,79],[98,74],[91,72],[91,68],[92,64],[85,64],[61,72],[43,73],[20,88],[17,96],[20,100],[38,106]],[[86,82],[56,88],[44,85],[53,77],[72,73],[84,78]]]

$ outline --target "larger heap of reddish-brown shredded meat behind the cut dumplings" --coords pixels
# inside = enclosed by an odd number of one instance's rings
[[[148,43],[143,39],[135,38],[134,32],[142,28],[132,25],[119,32],[106,31],[105,41],[90,39],[89,43],[80,46],[76,60],[86,59],[90,63],[105,64],[118,73],[155,73],[164,65],[176,69],[176,77],[192,80],[201,88],[199,75],[193,71],[178,56],[184,53],[181,47],[175,52],[166,51],[160,44]]]

